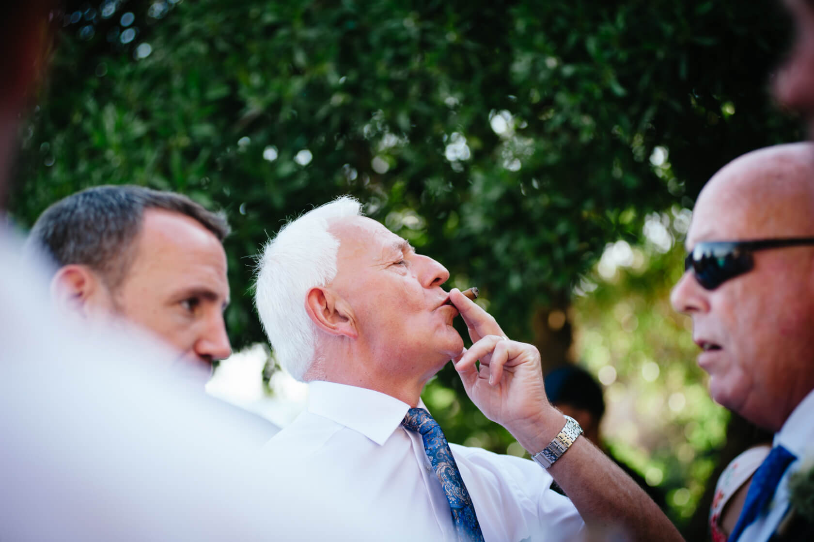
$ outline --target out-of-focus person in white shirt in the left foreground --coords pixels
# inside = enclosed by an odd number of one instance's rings
[[[0,193],[54,7],[10,2],[0,19]],[[156,378],[175,353],[118,326],[90,341],[55,314],[0,218],[0,540],[380,540],[330,509],[314,521],[230,410]]]

